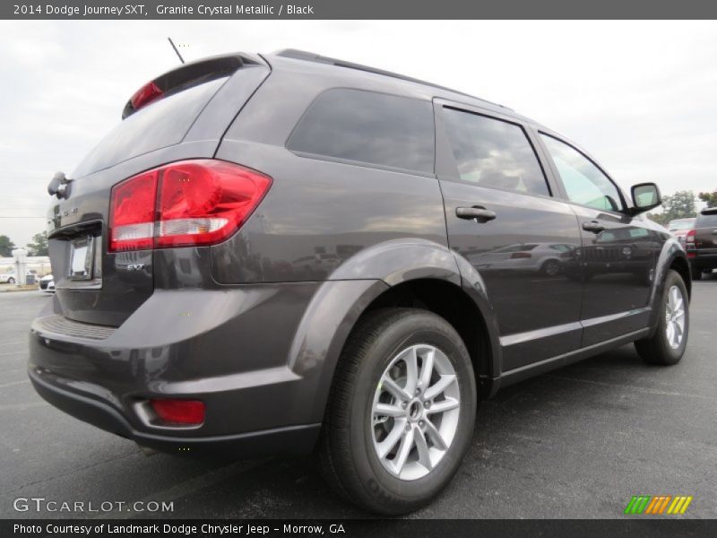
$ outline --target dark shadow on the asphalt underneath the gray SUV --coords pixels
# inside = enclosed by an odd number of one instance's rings
[[[644,364],[632,346],[626,346],[543,376],[534,377],[515,386],[506,387],[493,400],[479,404],[475,433],[466,456],[469,466],[471,460],[479,460],[486,454],[505,450],[508,441],[511,439],[514,441],[516,435],[523,435],[522,449],[530,452],[531,439],[524,432],[534,427],[539,418],[540,421],[545,422],[545,426],[539,428],[540,436],[549,436],[551,428],[559,430],[560,424],[559,422],[556,424],[556,421],[559,421],[560,415],[569,413],[569,409],[566,408],[581,398],[584,393],[583,385],[590,385],[599,392],[615,392],[625,386],[618,383],[619,379],[642,377],[647,369],[652,368],[654,367]],[[609,395],[605,399],[609,401]],[[615,411],[609,404],[603,405],[608,412]],[[171,457],[177,460],[177,465],[182,464],[181,456],[154,457]],[[550,461],[541,461],[541,458],[542,455],[533,453],[532,461],[527,461],[526,464],[536,468],[551,464]],[[223,474],[222,479],[219,482],[212,482],[208,487],[186,491],[186,495],[174,499],[173,516],[237,518],[374,516],[352,507],[350,503],[344,502],[334,494],[323,481],[316,458],[313,456],[274,457],[244,462],[236,469],[235,464],[227,459],[217,460],[216,465],[217,470],[226,466],[226,472],[220,471]],[[464,490],[470,491],[471,481],[475,482],[475,480],[472,473],[462,473],[459,470],[454,482],[436,499],[435,503],[412,516],[432,516],[434,510],[445,516],[445,511],[442,512],[443,508],[440,507],[445,508],[445,505],[450,505],[454,496],[465,494]],[[472,513],[467,516],[480,515]]]

